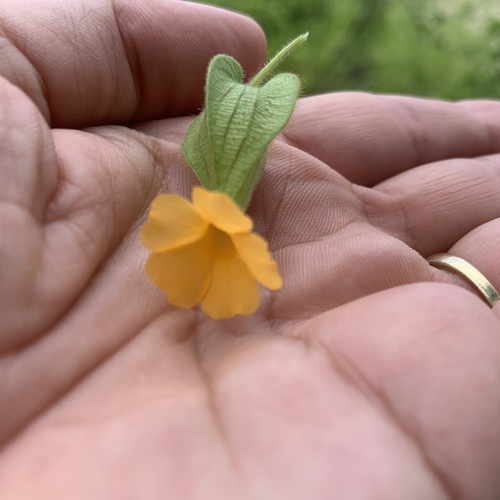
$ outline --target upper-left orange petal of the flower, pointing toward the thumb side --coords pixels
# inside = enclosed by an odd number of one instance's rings
[[[151,204],[141,240],[149,250],[161,252],[199,240],[207,228],[208,222],[188,200],[162,194]]]

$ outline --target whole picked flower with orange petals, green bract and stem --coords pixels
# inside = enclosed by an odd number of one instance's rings
[[[172,305],[200,305],[214,319],[254,313],[259,285],[278,290],[282,280],[264,238],[244,213],[266,162],[267,148],[285,127],[298,99],[292,74],[271,73],[307,38],[282,49],[249,84],[233,58],[210,63],[205,108],[183,143],[201,187],[192,203],[159,195],[151,204],[141,239],[151,255],[146,271]]]

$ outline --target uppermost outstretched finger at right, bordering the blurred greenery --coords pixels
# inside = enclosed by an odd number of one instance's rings
[[[351,182],[372,186],[424,163],[499,152],[499,112],[496,102],[330,94],[300,101],[285,138]]]

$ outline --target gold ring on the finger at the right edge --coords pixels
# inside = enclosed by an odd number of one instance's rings
[[[445,269],[465,278],[481,296],[493,307],[500,301],[495,287],[472,264],[449,253],[437,253],[427,258],[427,262],[438,269]]]

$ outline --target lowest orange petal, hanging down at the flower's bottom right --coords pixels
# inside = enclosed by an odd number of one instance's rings
[[[201,308],[213,319],[249,315],[259,306],[259,286],[236,252],[214,262],[213,277]]]

